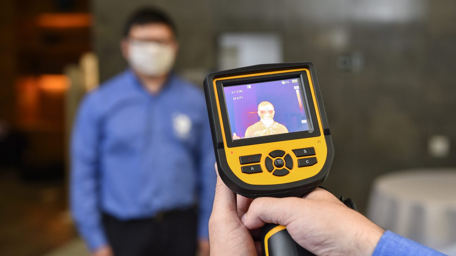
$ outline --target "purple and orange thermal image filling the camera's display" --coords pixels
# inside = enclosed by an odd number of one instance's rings
[[[308,131],[298,78],[223,87],[233,140]]]

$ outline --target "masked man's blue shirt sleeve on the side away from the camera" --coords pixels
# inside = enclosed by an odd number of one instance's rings
[[[99,125],[93,96],[84,98],[73,126],[70,177],[71,213],[91,251],[107,244],[98,200]]]

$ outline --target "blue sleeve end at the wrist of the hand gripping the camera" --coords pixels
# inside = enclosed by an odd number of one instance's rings
[[[373,256],[445,256],[445,254],[387,230],[378,241]]]

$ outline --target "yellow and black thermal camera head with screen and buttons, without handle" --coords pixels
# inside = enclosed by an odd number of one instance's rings
[[[218,172],[239,195],[301,196],[334,156],[311,62],[213,72],[204,80]]]

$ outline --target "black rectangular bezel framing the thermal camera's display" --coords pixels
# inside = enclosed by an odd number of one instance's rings
[[[303,99],[303,103],[305,104],[305,111],[307,115],[307,123],[309,125],[309,129],[307,131],[299,131],[293,133],[281,133],[275,135],[268,135],[268,136],[261,136],[255,138],[242,138],[233,140],[231,136],[231,127],[228,118],[228,110],[226,107],[225,102],[225,94],[223,87],[228,86],[235,86],[235,85],[243,85],[248,83],[259,83],[259,82],[270,82],[270,81],[280,81],[285,79],[300,79],[301,83],[299,86],[301,87],[301,97]],[[307,78],[307,71],[295,71],[295,72],[283,72],[277,74],[269,74],[269,75],[262,75],[262,76],[253,76],[253,77],[239,77],[239,78],[232,78],[232,79],[223,79],[218,80],[215,82],[218,94],[218,102],[221,110],[222,122],[223,122],[223,131],[225,133],[225,139],[228,148],[234,147],[241,147],[241,146],[248,146],[254,144],[262,144],[262,143],[270,143],[270,142],[278,142],[278,141],[285,141],[291,139],[300,139],[300,138],[311,138],[311,137],[318,137],[321,135],[320,132],[320,123],[316,117],[316,111],[314,106],[314,101],[312,98],[312,92],[310,88],[310,84]]]

